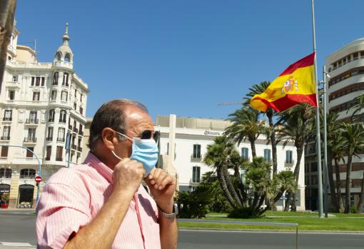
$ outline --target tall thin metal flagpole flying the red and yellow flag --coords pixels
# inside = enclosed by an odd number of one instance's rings
[[[313,32],[313,51],[316,52],[316,34],[315,34],[315,9],[313,0],[311,0],[312,8],[312,32]],[[320,138],[320,101],[318,98],[318,78],[317,78],[317,53],[315,54],[315,85],[316,85],[316,151],[318,165],[318,217],[323,218],[323,173],[321,168],[321,138]]]

